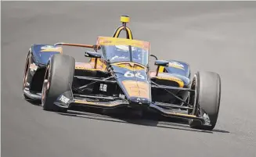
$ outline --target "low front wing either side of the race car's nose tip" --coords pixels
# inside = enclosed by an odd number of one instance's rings
[[[157,86],[161,87],[161,86]],[[164,87],[165,88],[165,87]],[[170,87],[169,87],[170,88]],[[174,87],[175,89],[186,90],[184,88]],[[189,90],[189,89],[188,89]],[[92,96],[92,95],[78,95],[73,94],[71,89],[66,91],[63,95],[57,98],[55,105],[62,108],[70,108],[73,105],[83,105],[94,108],[106,108],[113,109],[119,107],[132,107],[129,102],[121,97],[102,97],[102,96]],[[147,109],[152,109],[159,112],[163,116],[170,116],[183,119],[199,120],[201,123],[205,124],[204,117],[197,117],[187,114],[185,111],[178,111],[177,109],[191,109],[186,106],[168,104],[162,102],[151,102],[150,105],[141,106]]]

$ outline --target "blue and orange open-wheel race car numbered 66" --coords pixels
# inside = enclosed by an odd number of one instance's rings
[[[221,78],[218,73],[197,72],[189,64],[159,60],[150,54],[150,42],[135,40],[121,16],[112,37],[97,38],[95,45],[34,44],[27,54],[23,95],[41,101],[42,108],[67,112],[73,105],[102,109],[136,109],[188,120],[192,128],[213,130],[218,120]],[[121,31],[126,37],[119,37]],[[91,48],[88,62],[63,54],[63,46]],[[157,70],[150,70],[150,57]]]

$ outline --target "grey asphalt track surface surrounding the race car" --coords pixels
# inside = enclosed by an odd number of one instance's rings
[[[180,123],[120,120],[90,112],[45,112],[23,99],[33,43],[94,44],[121,15],[160,59],[189,62],[222,77],[213,131]],[[2,2],[2,157],[255,157],[255,2]],[[64,48],[84,61],[83,48]]]

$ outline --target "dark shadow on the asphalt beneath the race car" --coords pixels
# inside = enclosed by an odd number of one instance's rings
[[[200,132],[206,134],[222,133],[229,134],[229,131],[225,130],[198,130],[189,127],[187,120],[181,120],[177,118],[166,118],[156,115],[140,116],[134,112],[127,112],[123,110],[117,110],[113,112],[103,112],[101,109],[84,109],[75,108],[75,110],[68,110],[67,112],[57,112],[62,116],[74,116],[78,118],[85,118],[90,120],[103,120],[115,123],[129,123],[133,125],[147,126],[147,127],[161,127],[174,130],[186,130],[193,132]],[[85,112],[86,111],[86,112]]]

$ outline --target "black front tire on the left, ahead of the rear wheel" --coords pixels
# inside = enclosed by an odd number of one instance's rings
[[[69,55],[52,55],[45,70],[45,80],[41,91],[41,104],[44,110],[67,112],[53,102],[72,87],[75,60]]]

